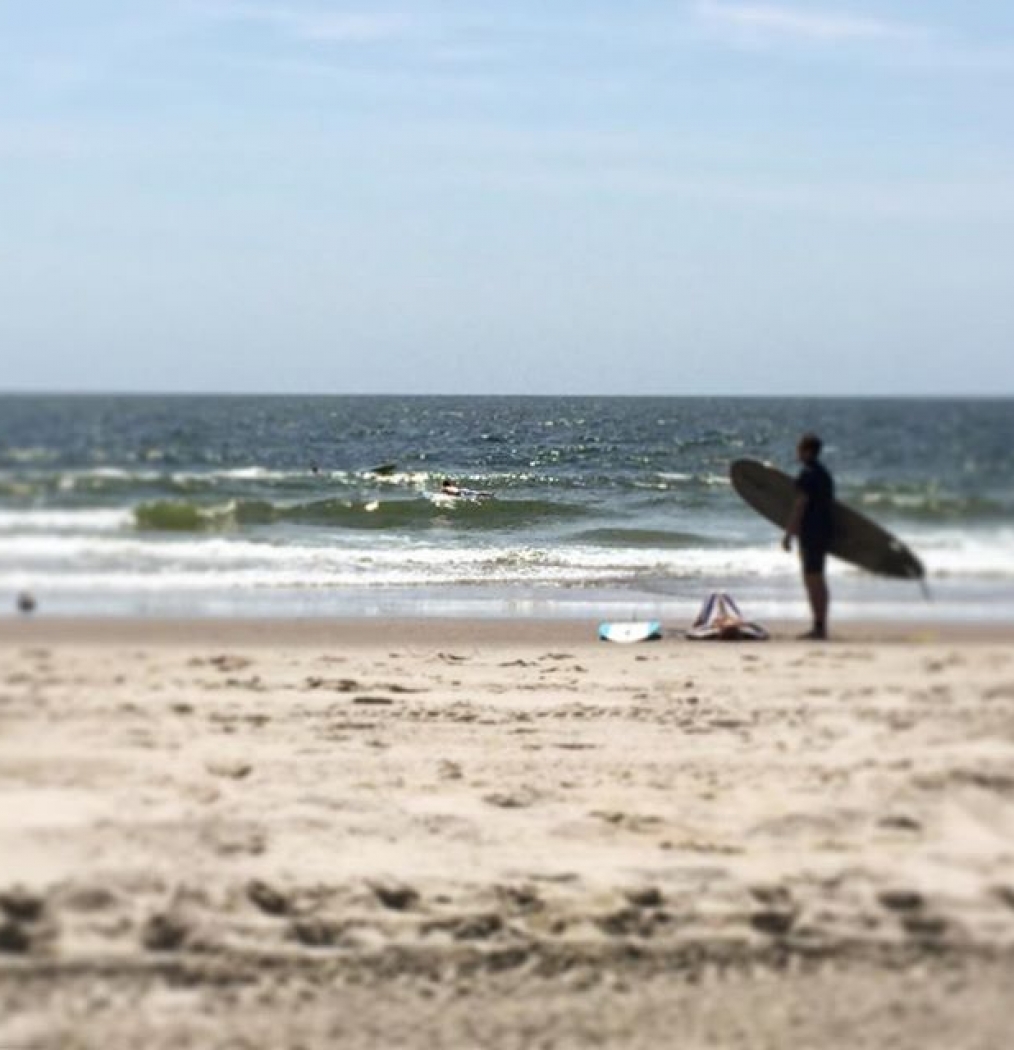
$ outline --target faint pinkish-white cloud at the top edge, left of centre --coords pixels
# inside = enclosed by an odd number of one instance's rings
[[[372,44],[404,37],[413,20],[398,12],[329,12],[293,4],[216,3],[214,17],[272,26],[296,40]]]

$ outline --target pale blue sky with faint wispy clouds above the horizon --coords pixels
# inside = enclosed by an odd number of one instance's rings
[[[0,390],[1014,395],[1010,0],[0,0]]]

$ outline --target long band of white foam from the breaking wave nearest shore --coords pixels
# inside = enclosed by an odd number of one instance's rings
[[[778,579],[798,573],[795,556],[777,545],[703,548],[589,547],[583,545],[435,544],[398,537],[322,536],[314,543],[257,541],[238,536],[148,538],[130,528],[129,511],[0,511],[0,566],[86,572],[118,565],[141,573],[166,566],[220,578],[234,568],[292,571],[343,581],[387,583],[461,580],[580,583],[583,580],[715,578]],[[918,548],[931,579],[1014,579],[1014,532],[942,537]],[[839,574],[857,570],[831,563]]]

